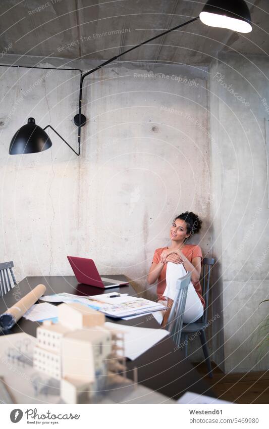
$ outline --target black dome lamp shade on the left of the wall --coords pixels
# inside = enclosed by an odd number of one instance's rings
[[[29,118],[12,137],[9,154],[34,154],[43,152],[52,146],[51,140],[43,128],[36,125],[34,118]]]

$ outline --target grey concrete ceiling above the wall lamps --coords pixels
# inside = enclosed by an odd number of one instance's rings
[[[123,56],[122,61],[206,66],[218,52],[267,55],[269,2],[246,3],[253,22],[249,34],[207,27],[198,20]],[[203,4],[191,0],[2,0],[0,41],[9,54],[60,57],[71,60],[71,66],[74,59],[107,60],[198,16]]]

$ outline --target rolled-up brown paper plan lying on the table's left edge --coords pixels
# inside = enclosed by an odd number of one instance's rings
[[[25,295],[11,308],[0,316],[0,327],[10,329],[15,323],[29,310],[30,307],[44,295],[46,287],[44,284],[38,284],[29,294]]]

